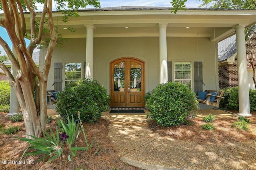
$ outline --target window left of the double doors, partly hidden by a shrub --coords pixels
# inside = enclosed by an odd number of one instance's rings
[[[68,82],[81,79],[82,63],[65,63],[65,86]]]

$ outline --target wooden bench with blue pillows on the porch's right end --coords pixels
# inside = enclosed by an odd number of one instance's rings
[[[220,100],[223,98],[224,91],[223,90],[205,90],[204,92],[207,92],[205,99],[197,99],[199,103],[216,106],[219,107]],[[216,92],[217,94],[212,94],[213,92]],[[211,102],[210,98],[214,98],[214,100]]]

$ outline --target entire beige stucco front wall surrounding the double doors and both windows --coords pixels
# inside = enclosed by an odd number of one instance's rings
[[[197,43],[198,42],[198,43]],[[198,44],[198,45],[197,45]],[[48,78],[48,90],[53,90],[54,63],[85,62],[86,39],[68,39],[54,51],[52,67]],[[214,42],[206,37],[167,37],[168,61],[203,62],[203,90],[218,88],[218,64],[215,65]],[[44,54],[41,51],[41,54]],[[109,63],[121,57],[135,57],[145,61],[146,92],[154,89],[159,83],[159,37],[102,37],[94,38],[94,79],[99,80],[109,90]],[[40,63],[43,59],[41,58]],[[215,67],[216,66],[216,67]],[[40,67],[42,68],[42,67]],[[215,70],[217,75],[215,75]],[[83,72],[83,67],[82,67]],[[174,72],[172,72],[174,78]],[[64,76],[64,69],[63,69]],[[215,76],[216,81],[215,82]],[[64,78],[63,78],[64,80]],[[194,88],[194,78],[192,87]],[[63,82],[64,88],[64,82]],[[194,89],[193,89],[194,90]]]

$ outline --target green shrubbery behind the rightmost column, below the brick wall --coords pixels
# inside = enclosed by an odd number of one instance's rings
[[[225,91],[223,99],[220,100],[220,108],[239,110],[238,87],[222,89]],[[250,111],[256,111],[256,90],[249,89]]]

